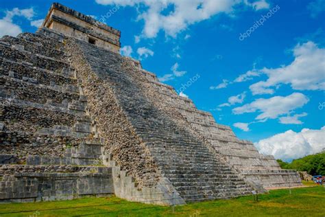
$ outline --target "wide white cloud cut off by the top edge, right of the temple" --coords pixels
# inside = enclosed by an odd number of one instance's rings
[[[163,30],[167,36],[176,37],[189,25],[210,19],[216,14],[232,14],[234,6],[240,3],[244,3],[255,10],[264,9],[267,6],[265,0],[252,3],[247,0],[96,0],[96,2],[102,5],[145,6],[139,7],[145,9],[138,10],[138,20],[145,22],[143,36],[147,38],[156,37],[160,30]],[[173,10],[164,14],[164,10],[169,7],[173,7]]]

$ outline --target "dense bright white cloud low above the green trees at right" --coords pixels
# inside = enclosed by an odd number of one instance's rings
[[[320,152],[325,148],[325,126],[320,130],[304,128],[300,133],[287,130],[255,143],[264,155],[274,155],[276,159],[291,161]]]

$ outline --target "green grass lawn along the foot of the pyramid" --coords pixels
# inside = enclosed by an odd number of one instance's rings
[[[271,190],[231,200],[171,207],[132,203],[117,197],[0,205],[0,216],[325,216],[325,188]]]

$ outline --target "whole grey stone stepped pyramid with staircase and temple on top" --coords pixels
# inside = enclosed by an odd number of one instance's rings
[[[301,185],[121,56],[120,35],[53,3],[35,34],[0,39],[0,202],[173,205]]]

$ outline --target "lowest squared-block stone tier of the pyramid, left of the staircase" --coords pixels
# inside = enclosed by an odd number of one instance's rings
[[[58,201],[114,193],[111,168],[0,165],[0,202]]]

